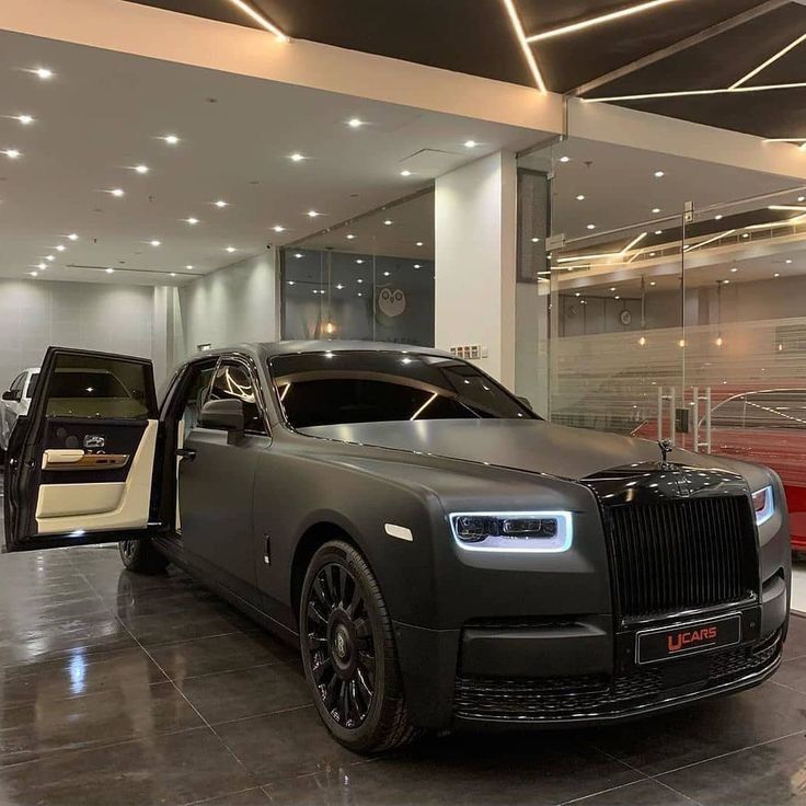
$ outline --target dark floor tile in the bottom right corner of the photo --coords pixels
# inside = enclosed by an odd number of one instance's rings
[[[704,806],[806,804],[806,737],[759,745],[659,780]]]

